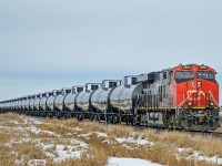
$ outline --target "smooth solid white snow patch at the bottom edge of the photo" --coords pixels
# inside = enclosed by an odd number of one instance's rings
[[[139,158],[111,157],[108,159],[107,166],[161,166],[161,165]]]

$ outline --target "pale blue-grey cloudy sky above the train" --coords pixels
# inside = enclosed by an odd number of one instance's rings
[[[222,81],[221,0],[0,0],[0,101],[180,63]]]

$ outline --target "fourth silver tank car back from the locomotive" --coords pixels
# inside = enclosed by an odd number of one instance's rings
[[[73,86],[72,92],[69,93],[64,98],[64,106],[68,108],[68,111],[74,111],[75,106],[75,98],[79,95],[80,92],[84,90],[83,86]]]

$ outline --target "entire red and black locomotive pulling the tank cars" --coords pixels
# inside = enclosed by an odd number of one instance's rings
[[[189,64],[142,74],[138,98],[142,125],[210,131],[219,127],[219,84],[215,70]],[[140,79],[141,77],[141,79]]]

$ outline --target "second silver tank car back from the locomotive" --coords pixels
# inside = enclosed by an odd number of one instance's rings
[[[98,112],[104,113],[110,103],[110,94],[112,90],[121,85],[121,81],[117,80],[103,80],[102,87],[94,91],[91,96],[91,104]]]

